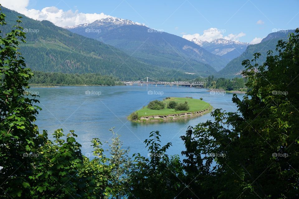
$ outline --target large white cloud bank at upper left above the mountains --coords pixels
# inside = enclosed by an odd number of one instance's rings
[[[29,0],[1,0],[1,4],[4,7],[20,12],[32,19],[48,20],[57,26],[79,25],[112,17],[104,13],[82,13],[78,12],[78,10],[74,12],[72,10],[64,11],[54,6],[45,7],[42,10],[29,10],[26,8],[29,4]]]

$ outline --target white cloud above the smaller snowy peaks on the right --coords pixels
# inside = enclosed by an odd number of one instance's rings
[[[246,34],[243,32],[240,32],[239,34],[229,34],[227,36],[223,36],[223,34],[226,32],[226,30],[221,30],[221,29],[217,29],[217,28],[209,28],[207,30],[203,31],[203,34],[200,35],[198,33],[193,34],[193,35],[183,35],[183,38],[191,40],[193,38],[202,40],[202,41],[208,41],[211,42],[214,39],[219,39],[219,38],[223,38],[223,39],[229,39],[232,41],[237,41],[240,37],[245,36]]]

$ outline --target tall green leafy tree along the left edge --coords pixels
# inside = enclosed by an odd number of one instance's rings
[[[4,19],[5,15],[1,12],[1,26],[6,24]],[[36,161],[36,150],[44,140],[33,124],[40,109],[33,103],[38,103],[38,100],[36,95],[29,98],[25,92],[29,89],[28,80],[32,72],[26,68],[18,52],[18,45],[25,42],[20,19],[11,32],[5,37],[0,36],[1,198],[30,197],[32,164]]]

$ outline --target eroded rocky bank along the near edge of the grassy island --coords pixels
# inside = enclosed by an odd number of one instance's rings
[[[177,119],[186,119],[186,118],[194,118],[198,116],[202,116],[206,113],[211,112],[213,109],[210,106],[208,109],[202,111],[195,111],[195,112],[187,112],[187,113],[176,113],[176,114],[169,114],[169,115],[149,115],[149,116],[142,116],[138,120],[139,122],[158,122],[158,121],[165,121],[165,120],[177,120]]]

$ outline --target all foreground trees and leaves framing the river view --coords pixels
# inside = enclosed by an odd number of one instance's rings
[[[242,100],[233,95],[238,112],[216,109],[213,121],[189,127],[182,162],[166,154],[171,143],[161,146],[158,131],[144,142],[148,157],[131,161],[113,128],[110,157],[97,138],[93,153],[83,155],[74,131],[65,137],[58,129],[53,141],[39,133],[38,100],[26,92],[33,74],[18,52],[25,39],[19,23],[0,37],[0,198],[299,197],[299,29],[263,65],[260,53],[243,62],[249,90]]]

